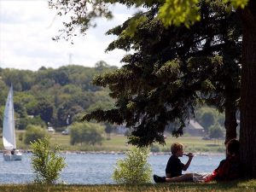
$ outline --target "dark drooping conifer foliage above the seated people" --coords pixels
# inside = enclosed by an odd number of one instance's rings
[[[84,116],[125,123],[132,130],[129,143],[137,146],[165,143],[163,132],[172,122],[179,122],[173,136],[182,135],[186,119],[204,102],[219,111],[229,102],[236,114],[239,98],[241,28],[236,15],[227,15],[224,4],[201,1],[200,22],[189,29],[166,28],[156,17],[157,9],[143,14],[133,35],[125,33],[131,20],[108,31],[118,36],[108,50],[135,52],[125,55],[124,67],[94,79],[96,85],[111,90],[116,108]],[[229,95],[232,100],[226,99]]]

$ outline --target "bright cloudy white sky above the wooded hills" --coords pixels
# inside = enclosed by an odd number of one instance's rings
[[[56,10],[46,0],[0,0],[0,67],[37,71],[40,67],[58,68],[69,64],[94,67],[97,61],[121,67],[125,51],[105,53],[116,36],[105,32],[123,23],[135,13],[125,6],[113,7],[113,20],[101,19],[86,36],[73,38],[73,43],[52,40],[62,29]]]

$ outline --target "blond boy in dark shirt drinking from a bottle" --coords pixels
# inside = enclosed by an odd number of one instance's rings
[[[183,144],[181,143],[172,143],[171,153],[172,155],[166,165],[166,177],[154,175],[155,183],[168,182],[169,178],[181,176],[182,172],[189,168],[191,160],[194,157],[194,154],[192,153],[186,154],[189,157],[186,164],[183,164],[181,160],[178,159],[179,157],[183,156]]]

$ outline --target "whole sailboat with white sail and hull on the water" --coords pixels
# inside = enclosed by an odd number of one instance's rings
[[[13,86],[9,89],[3,113],[3,159],[21,160],[22,154],[16,149],[15,140],[15,110],[13,101]]]

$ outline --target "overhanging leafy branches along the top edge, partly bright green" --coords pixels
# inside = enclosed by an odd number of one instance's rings
[[[222,0],[226,3],[228,9],[244,9],[248,0]],[[189,28],[193,26],[196,21],[201,20],[199,11],[200,0],[101,0],[101,1],[71,1],[71,0],[49,0],[49,7],[57,9],[58,15],[70,15],[70,20],[64,22],[64,29],[60,30],[60,35],[57,35],[53,40],[59,40],[61,37],[66,40],[77,36],[77,29],[81,34],[86,34],[90,27],[95,27],[96,18],[102,17],[106,19],[113,18],[113,12],[109,9],[110,4],[120,3],[127,8],[132,6],[141,9],[143,13],[137,17],[136,20],[131,20],[126,30],[126,35],[133,36],[137,30],[137,24],[144,20],[142,14],[149,9],[157,9],[158,16],[163,22],[164,26],[180,26],[184,25]],[[64,36],[64,37],[63,37]],[[73,42],[72,42],[73,44]]]

